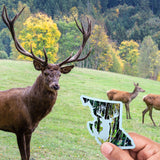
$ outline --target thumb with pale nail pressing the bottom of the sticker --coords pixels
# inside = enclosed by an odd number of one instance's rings
[[[127,152],[109,142],[101,145],[101,152],[108,160],[133,160]]]

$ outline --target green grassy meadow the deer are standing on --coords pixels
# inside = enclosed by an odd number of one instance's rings
[[[0,61],[0,90],[32,85],[40,72],[32,63],[22,61]],[[148,93],[160,94],[160,82],[116,73],[75,68],[70,74],[62,75],[61,89],[52,112],[35,130],[31,141],[31,158],[36,160],[99,160],[105,159],[86,127],[93,118],[89,107],[80,101],[81,95],[107,99],[106,91],[112,88],[132,92],[133,82],[146,90],[130,104],[131,120],[126,120],[123,108],[123,128],[145,135],[160,142],[160,127],[154,127],[149,115],[142,125],[142,111],[146,108],[142,97]],[[159,125],[160,112],[154,110],[153,118]],[[16,137],[0,131],[0,159],[20,159]]]

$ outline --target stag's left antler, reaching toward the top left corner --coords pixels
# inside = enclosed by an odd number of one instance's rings
[[[15,30],[14,30],[14,23],[16,21],[16,19],[20,16],[20,14],[23,12],[25,7],[22,8],[22,10],[15,15],[15,17],[10,20],[9,17],[8,17],[8,14],[7,14],[7,9],[6,7],[4,6],[3,7],[3,11],[2,11],[2,19],[4,21],[4,23],[7,25],[8,29],[10,30],[11,32],[11,35],[12,35],[12,38],[14,40],[14,43],[15,43],[15,47],[16,49],[22,53],[23,55],[27,56],[27,57],[30,57],[32,58],[33,60],[39,62],[40,64],[42,64],[43,66],[47,66],[48,64],[48,58],[47,58],[47,54],[46,54],[46,51],[45,51],[45,48],[43,48],[43,52],[44,52],[44,56],[45,56],[45,60],[35,56],[33,54],[33,51],[32,51],[32,46],[31,46],[31,53],[29,53],[28,51],[26,51],[21,45],[20,43],[18,42],[17,38],[16,38],[16,35],[15,35]]]

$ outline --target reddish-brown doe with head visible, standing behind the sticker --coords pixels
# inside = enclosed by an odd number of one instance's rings
[[[130,102],[138,96],[139,92],[145,92],[145,90],[142,89],[138,83],[137,84],[134,83],[134,86],[135,88],[131,93],[126,91],[119,91],[116,89],[111,89],[107,91],[107,96],[109,100],[121,101],[125,104],[127,119],[131,119],[130,109],[129,109]]]

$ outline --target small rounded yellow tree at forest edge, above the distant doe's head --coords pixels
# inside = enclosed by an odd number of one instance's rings
[[[137,74],[137,62],[139,56],[139,44],[133,40],[123,41],[119,46],[119,55],[124,60],[124,73]]]

